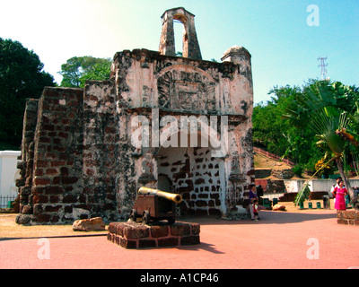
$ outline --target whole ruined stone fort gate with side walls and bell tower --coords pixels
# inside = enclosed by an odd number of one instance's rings
[[[159,51],[116,53],[109,81],[46,87],[23,122],[20,224],[127,219],[139,187],[179,193],[179,215],[228,215],[254,182],[250,53],[202,60],[194,15],[162,14]],[[183,23],[175,57],[173,21]]]

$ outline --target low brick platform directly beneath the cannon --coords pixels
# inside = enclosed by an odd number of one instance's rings
[[[109,223],[108,239],[122,248],[162,248],[197,245],[200,226],[198,223],[156,222],[150,225],[137,222]]]

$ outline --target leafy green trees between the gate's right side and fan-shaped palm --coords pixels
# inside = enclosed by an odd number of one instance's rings
[[[269,91],[271,100],[253,109],[253,143],[268,152],[289,157],[302,168],[314,170],[315,163],[323,156],[315,134],[309,129],[298,129],[283,115],[287,107],[300,98],[299,87],[274,87]]]

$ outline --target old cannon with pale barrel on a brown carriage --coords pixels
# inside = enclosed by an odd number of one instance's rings
[[[176,204],[180,204],[182,196],[169,192],[140,187],[136,202],[131,210],[130,220],[136,222],[138,217],[148,224],[150,221],[167,220],[170,224],[175,222]]]

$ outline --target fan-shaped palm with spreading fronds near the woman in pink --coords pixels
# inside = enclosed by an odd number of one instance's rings
[[[353,203],[355,193],[346,178],[343,158],[349,146],[355,153],[358,153],[358,147],[355,146],[354,141],[355,136],[348,133],[348,131],[355,127],[355,125],[351,126],[351,124],[355,123],[355,119],[359,119],[359,117],[354,117],[355,115],[338,107],[336,96],[338,89],[341,87],[340,84],[329,84],[328,81],[311,84],[303,91],[302,96],[293,103],[293,106],[287,109],[288,114],[285,117],[290,118],[296,126],[311,128],[320,139],[319,143],[327,145],[333,154],[329,161],[336,161],[339,174],[346,184]],[[359,113],[357,114],[359,115]],[[359,120],[357,123],[359,123]],[[310,190],[307,182],[296,196],[294,204],[301,204],[308,198],[309,194]]]

